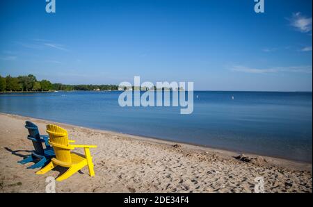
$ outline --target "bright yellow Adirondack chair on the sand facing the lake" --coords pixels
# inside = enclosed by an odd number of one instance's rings
[[[53,124],[47,125],[47,133],[49,134],[49,144],[54,148],[56,158],[51,158],[51,162],[36,172],[36,174],[45,174],[51,169],[54,169],[57,165],[68,167],[67,171],[56,179],[56,181],[63,181],[79,171],[79,169],[88,165],[90,176],[95,176],[95,172],[93,171],[93,160],[90,156],[89,148],[95,148],[97,146],[69,144],[75,141],[68,140],[67,131],[60,126]],[[77,147],[81,147],[85,150],[86,157],[70,152]]]

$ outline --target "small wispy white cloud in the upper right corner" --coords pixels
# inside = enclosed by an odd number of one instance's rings
[[[304,17],[301,13],[294,13],[289,19],[291,26],[294,26],[298,31],[302,33],[308,33],[312,31],[312,17]]]

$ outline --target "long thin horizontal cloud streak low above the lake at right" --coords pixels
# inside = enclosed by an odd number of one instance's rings
[[[254,68],[242,65],[235,65],[231,68],[234,72],[246,72],[250,74],[268,74],[278,72],[301,72],[312,73],[312,66],[290,66],[290,67],[270,67],[270,68]]]

